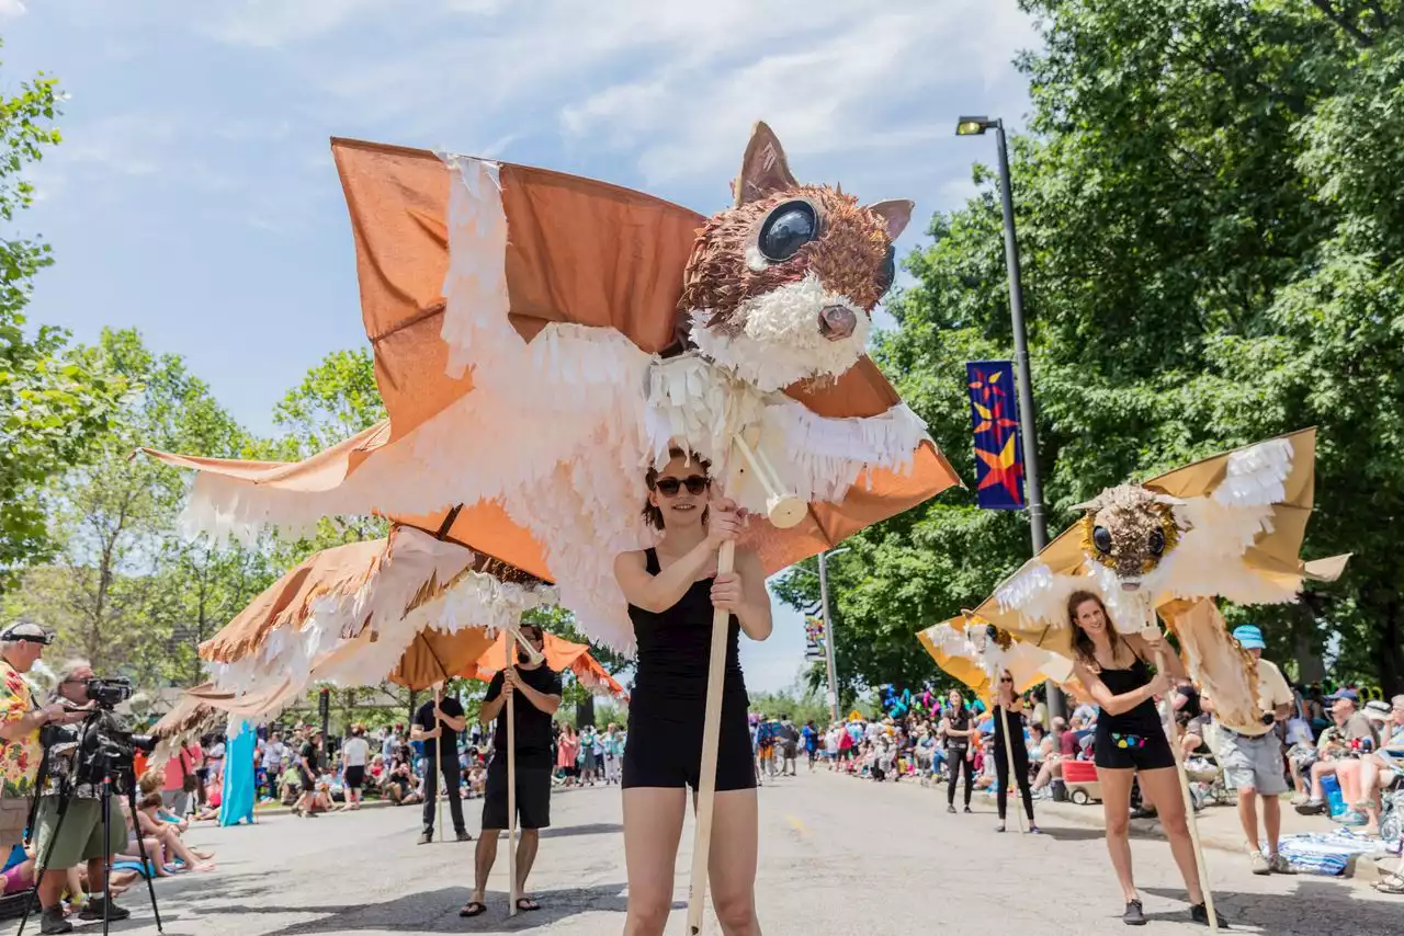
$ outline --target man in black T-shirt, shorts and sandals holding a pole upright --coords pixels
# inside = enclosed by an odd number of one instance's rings
[[[545,646],[539,626],[522,624],[521,633],[538,653]],[[526,897],[526,876],[536,860],[541,829],[550,825],[550,775],[555,770],[550,756],[550,717],[560,707],[560,674],[550,669],[543,658],[529,662],[522,650],[517,651],[517,665],[503,669],[487,685],[477,717],[484,726],[497,718],[497,731],[493,735],[493,759],[487,765],[487,787],[483,791],[483,831],[473,855],[473,895],[458,912],[459,916],[477,916],[487,911],[487,876],[497,860],[497,836],[510,825],[508,704],[512,706],[512,734],[517,742],[517,815],[521,825],[521,841],[517,843],[517,909],[541,909],[541,904]]]

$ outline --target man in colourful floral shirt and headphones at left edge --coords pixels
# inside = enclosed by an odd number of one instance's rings
[[[0,855],[24,841],[44,748],[39,728],[81,721],[60,704],[34,704],[22,674],[29,672],[53,636],[44,627],[18,622],[0,630]]]

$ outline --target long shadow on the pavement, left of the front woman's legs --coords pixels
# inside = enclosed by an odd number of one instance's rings
[[[390,930],[406,933],[461,933],[461,932],[515,932],[546,926],[578,914],[602,911],[622,914],[628,898],[621,897],[623,883],[600,884],[555,891],[534,891],[541,904],[539,911],[508,916],[508,895],[503,891],[489,891],[487,912],[472,919],[462,919],[459,908],[472,895],[468,887],[446,887],[435,891],[406,894],[382,904],[347,904],[322,907],[249,907],[230,904],[227,894],[220,894],[220,904],[201,908],[202,914],[316,914],[317,919],[292,923],[270,936],[310,936],[313,933],[355,933],[358,930]],[[267,894],[267,888],[263,890]],[[685,907],[675,902],[674,908]],[[178,925],[178,919],[171,921]],[[167,928],[167,936],[180,936],[183,930]]]

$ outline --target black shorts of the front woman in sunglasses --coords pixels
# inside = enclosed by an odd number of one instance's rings
[[[755,787],[751,733],[746,723],[746,693],[722,700],[722,734],[716,755],[716,789]],[[623,748],[619,786],[692,787],[702,782],[703,700],[639,699],[629,709],[629,740]]]

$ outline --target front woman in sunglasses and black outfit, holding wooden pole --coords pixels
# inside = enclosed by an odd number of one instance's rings
[[[702,780],[712,612],[720,608],[731,613],[708,888],[727,933],[760,933],[755,769],[739,644],[741,631],[753,640],[771,633],[765,570],[755,553],[737,547],[736,571],[716,573],[717,550],[741,530],[736,505],[712,490],[705,462],[677,449],[668,456],[665,466],[646,476],[643,512],[663,532],[658,546],[615,557],[639,651],[621,782],[629,874],[623,932],[657,936],[668,921],[687,789]]]

